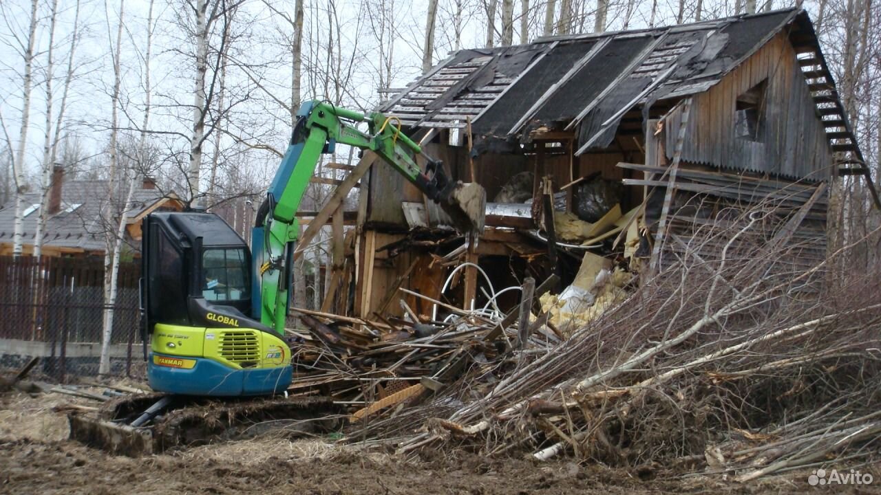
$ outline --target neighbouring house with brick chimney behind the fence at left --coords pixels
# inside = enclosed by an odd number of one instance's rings
[[[42,253],[46,256],[103,256],[108,225],[104,211],[112,206],[107,198],[108,181],[64,180],[63,168],[53,171],[49,186],[48,218],[43,236]],[[128,192],[124,191],[122,194]],[[25,195],[24,255],[33,254],[33,239],[40,217],[40,193]],[[164,195],[150,178],[144,178],[131,197],[129,209],[123,213],[126,222],[125,243],[137,253],[140,249],[141,218],[151,211],[181,211],[183,203],[172,192]],[[120,208],[115,208],[115,211]],[[118,217],[113,215],[113,224]],[[115,229],[115,225],[109,228]],[[0,208],[0,255],[12,254],[15,230],[15,200]]]

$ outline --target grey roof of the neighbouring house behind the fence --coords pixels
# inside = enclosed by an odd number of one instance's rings
[[[43,246],[63,247],[83,251],[104,251],[105,228],[101,222],[101,211],[107,207],[107,181],[72,180],[63,181],[61,211],[50,215],[46,221],[46,234]],[[137,218],[163,198],[175,199],[174,193],[163,195],[158,189],[136,188],[132,191],[130,209],[123,212],[126,218]],[[24,240],[33,245],[39,218],[40,193],[25,195]],[[127,219],[126,223],[130,223]],[[12,241],[15,231],[15,199],[0,207],[0,243]]]

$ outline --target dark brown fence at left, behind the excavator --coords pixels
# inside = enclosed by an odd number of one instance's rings
[[[113,306],[110,373],[144,373],[138,332],[137,262],[120,264]],[[98,373],[105,318],[101,259],[0,256],[0,367],[41,358],[41,373],[64,381]],[[32,372],[33,373],[33,372]]]

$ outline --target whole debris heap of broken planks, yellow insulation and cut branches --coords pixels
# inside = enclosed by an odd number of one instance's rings
[[[586,257],[568,296],[527,281],[520,307],[447,308],[455,316],[429,335],[318,315],[298,362],[352,403],[350,440],[403,453],[467,444],[744,481],[869,461],[881,448],[881,282],[848,268],[854,246],[794,267],[798,243],[769,241],[773,214],[722,212],[639,287]]]

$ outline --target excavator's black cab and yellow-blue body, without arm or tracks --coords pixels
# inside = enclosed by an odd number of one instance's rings
[[[252,314],[254,267],[239,234],[217,215],[199,212],[152,213],[143,228],[141,325],[151,336],[151,388],[178,395],[284,392],[291,351]]]

